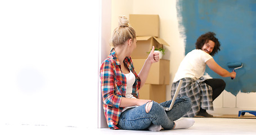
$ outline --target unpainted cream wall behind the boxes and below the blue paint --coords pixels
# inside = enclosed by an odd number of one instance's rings
[[[177,0],[178,1],[178,0]],[[184,28],[178,28],[176,1],[169,0],[112,0],[112,31],[118,25],[118,16],[129,14],[158,14],[160,17],[160,38],[170,46],[167,47],[165,59],[170,60],[170,83],[178,69],[179,63],[185,56]],[[171,84],[167,86],[167,100],[170,99]],[[237,114],[238,110],[256,110],[256,93],[239,93],[237,97],[224,91],[214,101],[214,112],[218,114]]]

